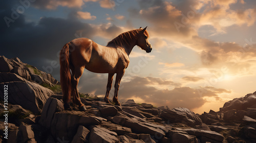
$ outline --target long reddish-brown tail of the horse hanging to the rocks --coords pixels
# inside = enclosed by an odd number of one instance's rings
[[[71,100],[71,73],[69,67],[69,43],[65,44],[59,54],[60,84],[63,93],[63,102],[68,104]]]

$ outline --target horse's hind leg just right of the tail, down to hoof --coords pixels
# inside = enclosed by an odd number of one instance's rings
[[[73,94],[73,102],[78,105],[78,108],[80,111],[85,111],[86,107],[82,104],[78,90],[77,90],[77,85],[79,82],[80,77],[82,76],[84,67],[79,67],[79,68],[74,68],[74,71],[72,71],[72,77],[71,77],[71,83],[72,83],[72,94]]]

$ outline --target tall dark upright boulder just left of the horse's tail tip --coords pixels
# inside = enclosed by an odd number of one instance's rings
[[[63,103],[60,100],[48,98],[44,108],[42,108],[39,124],[50,129],[54,113],[63,110]]]

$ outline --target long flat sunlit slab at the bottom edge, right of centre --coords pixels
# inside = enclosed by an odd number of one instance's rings
[[[205,130],[198,130],[198,129],[184,129],[185,132],[187,132],[190,135],[195,135],[196,137],[200,137],[200,136],[204,136],[216,141],[223,141],[224,140],[224,136],[214,132],[214,131],[205,131]]]

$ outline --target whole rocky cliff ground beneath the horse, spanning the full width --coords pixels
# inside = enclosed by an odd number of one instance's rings
[[[0,136],[3,142],[256,142],[256,92],[202,115],[187,108],[106,104],[82,98],[88,109],[63,109],[59,83],[50,74],[0,57]],[[8,85],[8,110],[4,107]],[[8,139],[4,125],[8,112]]]

